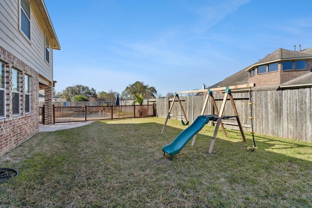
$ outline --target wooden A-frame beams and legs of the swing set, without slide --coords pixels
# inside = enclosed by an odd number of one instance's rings
[[[238,115],[237,110],[236,110],[236,106],[235,106],[235,103],[234,103],[233,96],[231,94],[231,90],[242,89],[242,88],[251,88],[251,87],[254,87],[254,84],[235,85],[235,86],[221,87],[221,88],[212,88],[212,89],[205,89],[205,90],[193,90],[193,91],[176,92],[175,98],[173,99],[173,102],[171,103],[171,106],[169,108],[169,112],[168,112],[168,115],[166,117],[165,124],[164,124],[164,126],[162,128],[161,133],[164,132],[165,126],[167,124],[168,118],[170,117],[170,113],[171,113],[171,110],[173,108],[173,105],[174,105],[176,99],[177,99],[177,101],[178,101],[178,103],[179,103],[179,105],[180,105],[180,107],[182,109],[182,113],[184,115],[184,118],[187,119],[186,118],[186,113],[185,113],[185,111],[184,111],[184,109],[182,107],[182,104],[181,104],[181,101],[179,99],[178,94],[204,93],[204,92],[207,92],[207,95],[206,95],[206,98],[205,98],[205,102],[204,102],[204,105],[203,105],[203,108],[201,110],[200,115],[204,115],[204,112],[205,112],[206,106],[208,104],[209,98],[210,98],[210,100],[212,102],[213,109],[214,109],[214,111],[216,113],[216,114],[213,114],[213,115],[206,115],[206,116],[214,116],[215,117],[214,121],[216,122],[214,135],[212,136],[212,141],[211,141],[210,148],[209,148],[209,153],[213,152],[216,135],[217,135],[217,132],[218,132],[218,129],[219,129],[220,125],[221,125],[221,128],[222,128],[222,131],[223,131],[224,135],[227,136],[227,134],[225,132],[225,129],[224,129],[224,126],[223,126],[223,123],[222,123],[222,119],[229,119],[229,118],[233,118],[233,117],[236,118],[237,125],[238,125],[239,130],[240,130],[241,135],[242,135],[242,139],[243,139],[244,142],[246,142],[245,134],[243,132],[243,128],[242,128],[241,122],[239,120],[239,115]],[[215,99],[214,99],[214,96],[213,96],[213,93],[212,93],[214,91],[225,91],[220,111],[218,111],[216,103],[215,103]],[[234,115],[223,115],[223,111],[224,111],[225,104],[226,104],[227,100],[230,100],[230,102],[231,102],[231,105],[232,105],[232,108],[233,108],[233,111],[234,111]],[[194,135],[194,137],[193,137],[192,146],[195,144],[195,140],[196,140],[197,134],[198,133],[196,133]],[[203,135],[203,134],[200,134],[200,135]]]

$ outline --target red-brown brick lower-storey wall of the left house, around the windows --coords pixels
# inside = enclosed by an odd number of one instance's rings
[[[0,118],[0,156],[39,132],[39,74],[0,47],[0,61],[5,63],[5,112]],[[20,71],[20,115],[12,115],[12,69]],[[25,113],[24,75],[31,77],[30,113]]]

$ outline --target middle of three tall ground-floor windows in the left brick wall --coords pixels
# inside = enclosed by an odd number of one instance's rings
[[[20,114],[20,72],[12,69],[12,115]]]

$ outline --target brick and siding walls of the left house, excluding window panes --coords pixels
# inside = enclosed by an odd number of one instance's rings
[[[53,47],[50,45],[49,63],[45,60],[45,34],[53,36],[54,30],[48,29],[50,21],[41,17],[41,0],[31,3],[31,38],[26,38],[20,30],[20,1],[0,1],[0,61],[5,64],[5,116],[0,118],[0,156],[15,148],[23,141],[39,132],[39,80],[45,87],[46,124],[52,124],[53,89]],[[39,9],[42,9],[39,11]],[[37,14],[36,12],[39,13]],[[48,14],[46,14],[48,16]],[[44,16],[46,18],[46,16]],[[49,27],[50,28],[50,27]],[[53,28],[53,26],[52,26]],[[52,35],[51,35],[52,34]],[[53,37],[54,41],[56,37]],[[53,40],[50,39],[50,43]],[[58,41],[57,41],[58,43]],[[57,45],[59,48],[59,45]],[[20,114],[12,114],[12,69],[20,72]],[[31,77],[30,113],[25,113],[24,76]],[[48,114],[50,113],[50,114]]]

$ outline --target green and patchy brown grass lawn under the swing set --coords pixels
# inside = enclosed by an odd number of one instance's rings
[[[186,127],[157,117],[39,132],[0,157],[19,175],[0,183],[0,207],[312,207],[312,144],[255,134],[197,136],[174,156],[162,147]],[[214,127],[200,132],[213,135]]]

